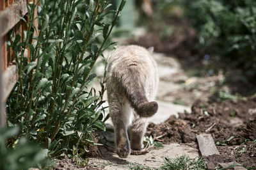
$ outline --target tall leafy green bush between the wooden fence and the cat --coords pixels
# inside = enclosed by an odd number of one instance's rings
[[[75,149],[83,155],[94,144],[92,133],[105,130],[102,92],[88,84],[95,61],[113,43],[106,44],[125,1],[108,10],[105,0],[42,0],[38,6],[39,33],[33,25],[37,4],[29,4],[28,31],[11,38],[19,81],[6,104],[8,125],[44,144],[49,155]],[[106,17],[111,19],[106,19]],[[102,38],[99,38],[102,36]],[[102,41],[100,41],[102,40]],[[34,41],[34,43],[32,43]],[[29,56],[25,56],[27,48]],[[102,91],[104,84],[101,83]],[[77,148],[80,150],[77,151]]]

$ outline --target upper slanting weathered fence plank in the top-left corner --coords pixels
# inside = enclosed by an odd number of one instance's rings
[[[6,35],[20,21],[19,17],[24,17],[27,12],[26,0],[16,1],[4,9],[4,11],[0,11],[0,18],[2,23],[4,23],[0,36]]]

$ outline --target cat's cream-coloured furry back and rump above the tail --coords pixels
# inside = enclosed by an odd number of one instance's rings
[[[138,45],[119,47],[109,57],[106,75],[109,95],[113,91],[119,95],[123,94],[122,89],[127,91],[138,89],[145,93],[148,100],[152,100],[157,91],[158,79],[156,61],[143,47]],[[120,86],[123,88],[118,88]]]

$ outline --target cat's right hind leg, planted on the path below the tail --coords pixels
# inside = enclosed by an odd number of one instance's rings
[[[132,150],[141,150],[143,148],[143,137],[147,128],[147,118],[141,118],[137,114],[129,128]]]

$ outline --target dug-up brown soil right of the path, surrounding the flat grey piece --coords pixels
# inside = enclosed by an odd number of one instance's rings
[[[164,123],[148,125],[147,135],[164,144],[194,143],[196,134],[209,133],[220,155],[205,157],[209,169],[221,162],[256,167],[256,98],[206,103],[197,100],[192,113],[179,113]],[[194,147],[198,147],[194,145]]]

